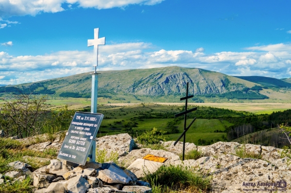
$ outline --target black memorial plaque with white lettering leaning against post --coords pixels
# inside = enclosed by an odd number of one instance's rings
[[[103,114],[76,112],[58,158],[84,165],[102,119]]]

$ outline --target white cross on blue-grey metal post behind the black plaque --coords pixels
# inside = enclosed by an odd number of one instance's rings
[[[88,47],[94,45],[94,60],[93,66],[95,67],[94,73],[92,74],[92,94],[91,94],[91,113],[97,113],[97,94],[98,94],[98,74],[96,68],[98,66],[98,45],[105,45],[105,37],[98,38],[99,28],[94,29],[94,39],[88,40]],[[90,150],[90,162],[95,162],[96,160],[96,141],[93,140],[92,147]]]

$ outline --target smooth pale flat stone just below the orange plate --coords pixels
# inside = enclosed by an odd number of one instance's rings
[[[152,174],[157,171],[164,163],[153,162],[144,159],[137,159],[127,168],[135,174],[137,178],[142,178],[146,174]],[[100,173],[100,172],[99,172]]]

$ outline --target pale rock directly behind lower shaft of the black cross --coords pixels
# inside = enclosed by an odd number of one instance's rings
[[[177,155],[182,154],[183,153],[183,142],[178,142],[176,144],[176,146],[174,146],[175,141],[166,141],[163,142],[161,141],[161,144],[165,147],[165,149],[167,149],[167,151],[170,151],[172,153],[175,153]],[[185,143],[185,153],[196,149],[197,146],[195,146],[194,143]]]

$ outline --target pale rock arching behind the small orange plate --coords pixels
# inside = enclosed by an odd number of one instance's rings
[[[137,160],[139,158],[142,159],[147,154],[168,158],[168,160],[164,162],[165,165],[168,165],[168,164],[173,163],[177,160],[180,160],[178,155],[176,155],[172,152],[169,152],[169,151],[165,151],[165,150],[161,150],[161,149],[160,150],[152,150],[150,148],[142,148],[142,149],[134,149],[134,150],[130,151],[129,154],[127,154],[126,156],[120,157],[118,159],[118,162],[124,163],[124,166],[128,167],[135,160]]]

